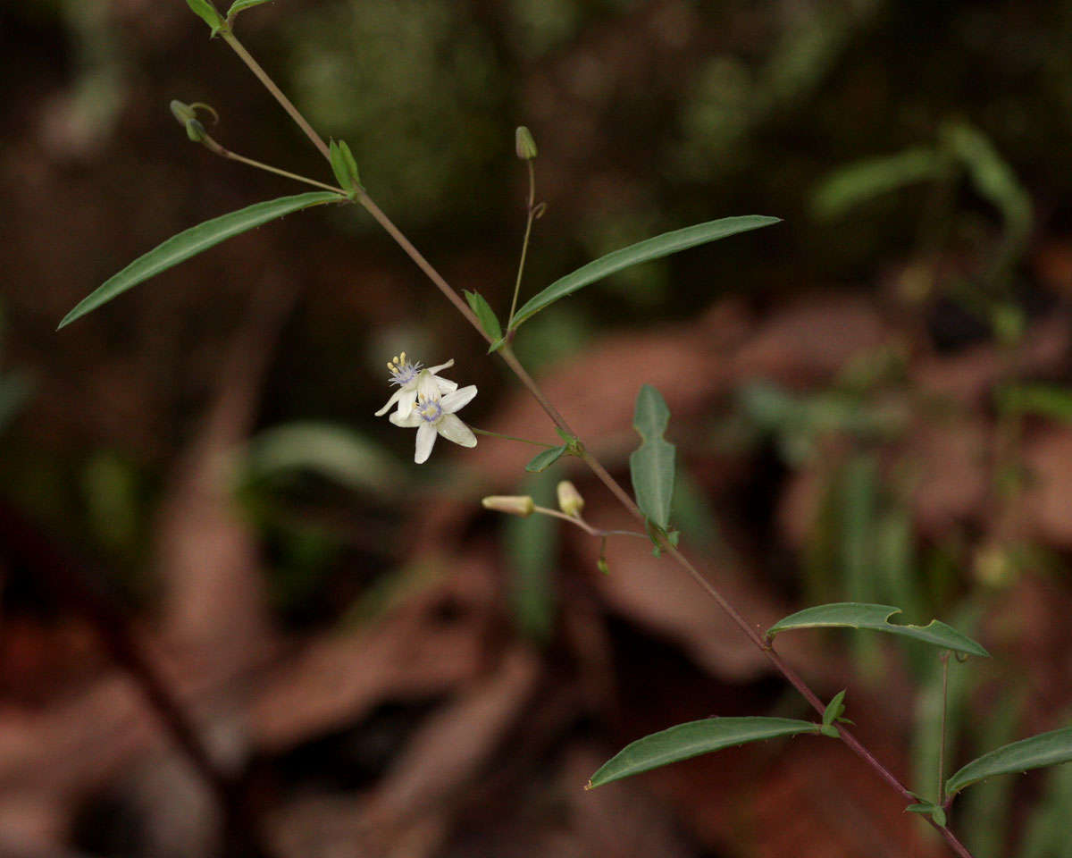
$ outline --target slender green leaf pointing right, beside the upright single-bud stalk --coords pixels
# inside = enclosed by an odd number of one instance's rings
[[[658,260],[669,256],[680,250],[714,241],[718,238],[744,233],[748,230],[758,230],[760,226],[770,226],[778,223],[779,218],[768,218],[762,214],[745,214],[739,218],[723,218],[717,221],[699,223],[696,226],[686,226],[684,230],[675,230],[672,233],[664,233],[655,238],[649,238],[627,248],[615,250],[606,256],[600,256],[594,262],[578,268],[572,273],[555,280],[550,286],[538,295],[525,301],[518,310],[510,323],[510,330],[516,329],[526,319],[534,316],[545,307],[554,304],[559,298],[571,295],[582,286],[602,280],[615,271],[628,268],[630,265],[639,265],[642,262]]]

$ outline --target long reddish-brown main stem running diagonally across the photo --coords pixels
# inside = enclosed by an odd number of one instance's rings
[[[321,150],[321,153],[330,162],[330,151],[327,145],[321,138],[321,136],[310,127],[306,121],[304,117],[298,112],[298,109],[291,103],[291,101],[282,93],[282,91],[271,82],[267,73],[260,68],[260,65],[249,55],[249,53],[241,46],[235,36],[225,31],[221,31],[221,35],[234,48],[235,53],[245,62],[247,65],[253,71],[253,73],[260,79],[260,82],[268,88],[276,99],[283,105],[283,108],[291,115],[291,117],[298,123],[306,135],[313,142],[314,145]],[[360,203],[361,206],[372,214],[373,219],[383,226],[391,238],[399,245],[399,247],[405,252],[407,256],[420,268],[421,271],[432,281],[432,283],[438,289],[444,296],[449,300],[455,308],[462,314],[462,316],[473,326],[477,334],[485,339],[488,343],[492,342],[491,337],[489,337],[480,325],[479,320],[468,308],[468,305],[462,299],[462,297],[455,292],[453,287],[444,279],[444,277],[432,266],[428,260],[414,247],[413,242],[402,233],[398,226],[384,213],[384,211],[373,202],[372,197],[368,195],[363,188],[359,188],[356,195],[355,202]],[[530,206],[530,213],[532,207]],[[526,231],[527,233],[527,231]],[[507,326],[508,327],[508,326]],[[510,368],[518,380],[527,388],[528,393],[533,398],[539,403],[540,408],[545,411],[548,417],[559,427],[563,432],[574,438],[577,438],[577,433],[570,429],[569,424],[566,419],[559,413],[559,410],[548,400],[540,389],[539,385],[533,380],[532,375],[525,370],[525,368],[518,360],[517,355],[515,355],[513,350],[509,343],[505,343],[498,351],[497,354],[503,358],[506,365]],[[610,475],[606,468],[587,452],[583,446],[581,448],[581,459],[591,469],[595,476],[610,490],[610,492],[617,498],[617,500],[625,506],[629,513],[637,518],[641,523],[645,523],[645,518],[640,508],[634,503],[632,498],[629,497],[628,492]],[[570,519],[574,520],[574,519]],[[819,699],[818,695],[807,685],[806,682],[796,674],[793,668],[791,668],[778,653],[774,651],[773,646],[760,637],[759,633],[748,624],[748,622],[741,616],[740,612],[726,600],[725,596],[712,585],[697,568],[693,563],[674,546],[666,543],[665,539],[660,539],[662,545],[660,546],[667,553],[669,553],[674,561],[688,574],[688,576],[709,595],[715,601],[715,603],[729,616],[733,623],[755,644],[760,651],[762,651],[771,663],[777,668],[777,670],[786,678],[786,680],[794,687],[798,692],[815,708],[819,713],[825,710],[825,706],[822,700]],[[897,778],[883,766],[866,748],[864,748],[860,741],[847,729],[838,727],[838,734],[844,741],[858,756],[860,756],[867,765],[869,765],[882,780],[884,780],[890,786],[895,790],[900,793],[902,797],[907,799],[909,802],[914,803],[915,797],[908,792],[908,788],[897,780]],[[927,822],[934,826],[941,835],[946,839],[950,848],[956,853],[961,858],[972,858],[971,853],[957,840],[956,835],[947,827],[937,825],[929,817],[925,817]]]

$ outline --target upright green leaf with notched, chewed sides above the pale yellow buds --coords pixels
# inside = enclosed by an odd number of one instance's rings
[[[673,498],[674,446],[662,438],[670,423],[670,410],[662,395],[645,384],[637,394],[632,426],[644,443],[629,456],[629,472],[637,506],[661,530],[670,527]]]

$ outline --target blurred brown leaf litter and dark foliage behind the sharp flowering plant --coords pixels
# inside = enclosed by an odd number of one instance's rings
[[[587,287],[518,354],[625,485],[637,388],[664,393],[675,524],[757,625],[853,600],[980,639],[947,772],[1066,723],[1072,5],[276,0],[236,29],[504,317],[518,124],[548,204],[522,300],[660,232],[783,218]],[[631,527],[567,460],[528,476],[483,438],[413,464],[372,416],[401,350],[456,360],[467,421],[554,434],[360,210],[262,226],[55,330],[168,236],[301,192],[191,144],[172,99],[330,180],[206,36],[180,0],[0,2],[0,850],[943,854],[818,739],[581,789],[680,721],[809,715],[639,541],[605,576],[598,541],[480,509],[553,506],[569,477],[591,522]],[[874,638],[779,649],[934,798],[937,651]],[[1054,769],[973,787],[952,823],[980,858],[1049,858],[1070,808]]]

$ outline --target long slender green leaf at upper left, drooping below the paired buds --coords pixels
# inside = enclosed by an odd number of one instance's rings
[[[284,196],[267,203],[257,203],[239,211],[233,211],[229,214],[191,226],[189,230],[172,236],[145,255],[138,256],[119,273],[105,280],[63,316],[59,327],[70,325],[76,319],[80,319],[101,305],[107,304],[117,295],[121,295],[131,286],[136,286],[150,277],[155,277],[161,271],[166,271],[221,241],[249,232],[263,223],[276,220],[276,218],[282,218],[292,211],[319,206],[324,203],[342,202],[343,199],[344,197],[337,193],[314,191],[297,196]]]

